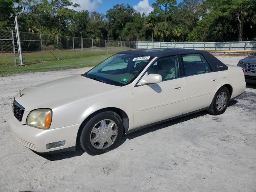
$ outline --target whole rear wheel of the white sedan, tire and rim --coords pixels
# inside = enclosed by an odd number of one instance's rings
[[[229,104],[230,93],[228,88],[222,87],[215,94],[212,103],[208,109],[208,112],[213,115],[223,114]]]

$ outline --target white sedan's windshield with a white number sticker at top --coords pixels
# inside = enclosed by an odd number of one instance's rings
[[[115,54],[83,76],[107,84],[124,86],[132,82],[150,60],[150,56]]]

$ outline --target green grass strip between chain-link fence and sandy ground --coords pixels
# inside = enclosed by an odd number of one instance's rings
[[[55,59],[53,61],[40,62],[40,63],[29,64],[25,66],[0,65],[0,76],[96,66],[97,64],[99,64],[106,58],[110,57],[111,55],[112,54],[104,54],[104,55],[86,56],[84,58],[72,58],[72,59],[65,59],[65,60]]]

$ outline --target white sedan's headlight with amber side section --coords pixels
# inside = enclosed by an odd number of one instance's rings
[[[40,129],[49,129],[52,122],[52,110],[36,109],[28,114],[27,125]]]

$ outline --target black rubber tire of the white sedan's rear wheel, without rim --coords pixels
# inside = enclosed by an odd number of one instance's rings
[[[227,103],[226,103],[226,106],[225,106],[222,110],[218,110],[218,109],[217,109],[217,106],[216,106],[217,97],[218,97],[218,95],[219,95],[220,93],[222,93],[222,92],[225,92],[226,95],[227,95]],[[230,102],[230,93],[229,93],[228,88],[226,88],[226,87],[221,87],[221,88],[216,92],[216,94],[214,95],[214,98],[213,98],[212,103],[211,103],[211,105],[210,105],[210,107],[209,107],[209,109],[208,109],[208,112],[209,112],[210,114],[213,114],[213,115],[220,115],[220,114],[223,114],[223,113],[226,111],[229,102]]]

